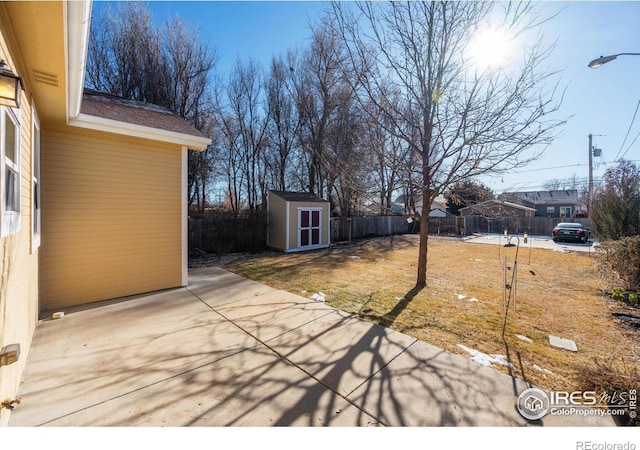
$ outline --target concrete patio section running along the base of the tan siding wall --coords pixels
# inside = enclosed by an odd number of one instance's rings
[[[47,423],[256,345],[184,289],[68,310],[37,327],[12,421]]]

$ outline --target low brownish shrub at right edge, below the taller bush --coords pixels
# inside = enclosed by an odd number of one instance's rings
[[[602,257],[599,269],[606,276],[615,277],[628,291],[640,288],[640,236],[623,237],[617,241],[605,241],[596,247]]]

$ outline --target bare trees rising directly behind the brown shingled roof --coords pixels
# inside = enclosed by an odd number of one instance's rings
[[[215,55],[200,43],[197,30],[175,18],[154,28],[148,5],[123,2],[115,11],[94,15],[87,54],[91,88],[160,105],[206,135],[211,133],[209,75]],[[206,203],[214,155],[189,155],[189,204]]]

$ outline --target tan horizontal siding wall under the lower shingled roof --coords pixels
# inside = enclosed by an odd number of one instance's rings
[[[43,128],[44,309],[183,283],[182,148]]]

